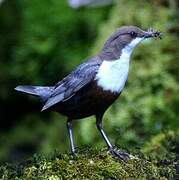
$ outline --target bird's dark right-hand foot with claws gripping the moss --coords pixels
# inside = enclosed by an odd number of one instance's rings
[[[119,158],[122,161],[128,161],[129,159],[132,158],[132,155],[130,155],[130,154],[124,152],[124,151],[118,150],[118,149],[110,149],[109,152],[114,157],[117,157],[117,158]]]

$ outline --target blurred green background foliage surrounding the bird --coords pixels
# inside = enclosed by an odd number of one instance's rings
[[[135,150],[161,132],[179,131],[179,4],[177,0],[119,0],[71,9],[65,0],[5,0],[0,4],[0,162],[34,153],[68,152],[65,117],[40,113],[19,84],[53,85],[95,55],[122,25],[161,30],[140,45],[124,92],[106,112],[104,128],[117,146]],[[78,147],[103,147],[93,117],[74,122]]]

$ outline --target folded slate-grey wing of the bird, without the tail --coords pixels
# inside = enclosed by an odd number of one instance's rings
[[[54,92],[46,101],[42,111],[59,102],[66,101],[90,83],[95,78],[99,66],[100,63],[95,61],[88,61],[78,66],[76,70],[56,84]]]

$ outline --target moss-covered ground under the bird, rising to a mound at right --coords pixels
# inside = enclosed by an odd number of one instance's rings
[[[85,148],[76,157],[58,151],[35,155],[18,165],[2,165],[0,179],[177,179],[177,141],[172,131],[157,135],[127,162],[106,149]]]

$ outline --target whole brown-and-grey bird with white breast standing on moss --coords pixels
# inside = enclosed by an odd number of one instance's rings
[[[161,38],[162,33],[153,29],[145,31],[137,26],[122,26],[107,39],[99,53],[77,66],[54,86],[20,85],[15,90],[39,97],[43,102],[41,111],[56,111],[67,117],[72,154],[77,153],[73,120],[95,116],[96,127],[109,152],[119,159],[130,159],[130,154],[112,145],[102,119],[124,89],[133,50],[142,41],[155,37]]]

